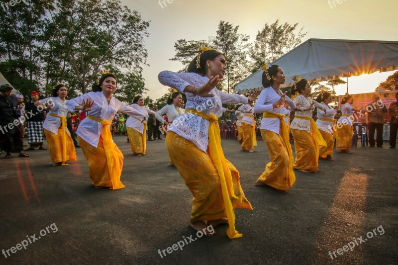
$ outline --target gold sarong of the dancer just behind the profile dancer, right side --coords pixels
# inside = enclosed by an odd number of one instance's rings
[[[319,159],[319,147],[316,135],[298,129],[291,129],[291,131],[295,140],[296,151],[296,160],[293,168],[316,172],[318,170]]]

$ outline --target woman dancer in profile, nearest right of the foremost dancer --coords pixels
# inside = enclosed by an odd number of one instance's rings
[[[261,82],[264,89],[254,104],[253,111],[264,112],[260,129],[271,161],[255,184],[269,185],[281,193],[286,193],[295,183],[296,176],[293,172],[293,152],[289,141],[290,111],[285,108],[285,102],[296,111],[300,109],[286,96],[286,92],[282,93],[280,90],[286,79],[283,69],[278,65],[272,65],[270,68],[264,66],[263,69],[265,71]]]

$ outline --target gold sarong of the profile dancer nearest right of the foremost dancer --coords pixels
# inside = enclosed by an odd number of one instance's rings
[[[261,136],[267,144],[271,161],[265,166],[265,171],[258,178],[261,182],[277,189],[287,190],[296,181],[290,162],[289,152],[282,135],[269,130],[261,130]],[[290,151],[292,152],[292,150]]]

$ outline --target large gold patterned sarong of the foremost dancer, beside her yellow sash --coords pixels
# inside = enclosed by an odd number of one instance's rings
[[[204,153],[194,143],[172,131],[167,133],[166,149],[171,161],[194,195],[191,219],[217,220],[226,217],[220,177],[209,151]],[[238,171],[228,160],[226,163],[232,175],[233,193],[237,197],[230,198],[232,207],[252,210],[240,186]]]

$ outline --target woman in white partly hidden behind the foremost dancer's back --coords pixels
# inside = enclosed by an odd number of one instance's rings
[[[178,90],[172,89],[172,94],[167,99],[167,105],[156,112],[155,118],[168,129],[168,124],[184,113],[185,109],[180,107],[183,102],[183,95]],[[167,115],[167,121],[162,117],[164,114]],[[170,160],[169,166],[174,166],[172,160]]]

